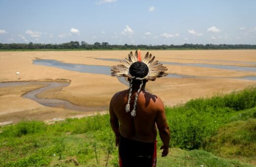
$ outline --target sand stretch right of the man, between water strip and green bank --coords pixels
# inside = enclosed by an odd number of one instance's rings
[[[166,106],[185,103],[191,99],[226,94],[255,85],[255,81],[236,79],[168,79],[160,78],[161,84],[149,82],[148,88],[163,100]]]

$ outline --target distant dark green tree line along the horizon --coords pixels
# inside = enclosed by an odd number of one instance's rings
[[[229,44],[183,44],[183,45],[110,45],[108,42],[88,44],[85,41],[70,41],[62,44],[0,43],[0,50],[196,50],[196,49],[256,49],[256,45]]]

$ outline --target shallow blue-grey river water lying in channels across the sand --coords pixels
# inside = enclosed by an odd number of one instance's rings
[[[119,61],[118,59],[111,58],[97,58],[102,60],[110,60],[110,61]],[[256,71],[255,67],[239,67],[239,66],[229,66],[229,65],[212,65],[212,64],[199,64],[199,63],[175,63],[175,62],[161,62],[162,64],[172,64],[172,65],[184,65],[184,66],[197,66],[197,67],[209,67],[209,68],[218,68],[218,69],[228,69],[228,70],[236,70],[236,71]],[[84,73],[93,73],[93,74],[103,74],[110,75],[110,67],[108,66],[97,66],[97,65],[85,65],[85,64],[71,64],[71,63],[63,63],[56,60],[49,59],[36,59],[33,60],[33,64],[36,65],[45,65],[50,67],[62,68],[70,71],[78,71]],[[171,78],[214,78],[214,77],[196,77],[196,76],[185,76],[185,75],[176,75],[169,74],[167,77]],[[219,77],[216,77],[219,78]],[[119,81],[128,86],[128,82],[125,78],[118,77]],[[243,78],[235,78],[235,79],[244,79],[244,80],[256,80],[256,76],[249,76]],[[42,87],[33,91],[30,91],[23,95],[25,98],[29,98],[43,106],[48,107],[61,107],[69,110],[76,111],[103,111],[107,110],[107,107],[85,107],[85,106],[76,106],[69,101],[62,99],[41,99],[37,98],[36,95],[40,92],[43,92],[50,88],[59,87],[60,89],[64,86],[68,86],[69,83],[61,83],[61,82],[8,82],[8,83],[0,83],[0,87],[6,86],[18,86],[24,84],[45,84],[46,87]]]

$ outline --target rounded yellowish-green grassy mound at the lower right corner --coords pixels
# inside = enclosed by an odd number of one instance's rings
[[[256,119],[224,124],[207,150],[223,157],[256,157]]]

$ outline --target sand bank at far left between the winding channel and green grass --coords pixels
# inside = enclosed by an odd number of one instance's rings
[[[20,120],[47,120],[55,117],[70,117],[84,114],[81,111],[69,111],[60,108],[42,106],[21,95],[45,85],[22,85],[14,87],[0,87],[0,122]]]

